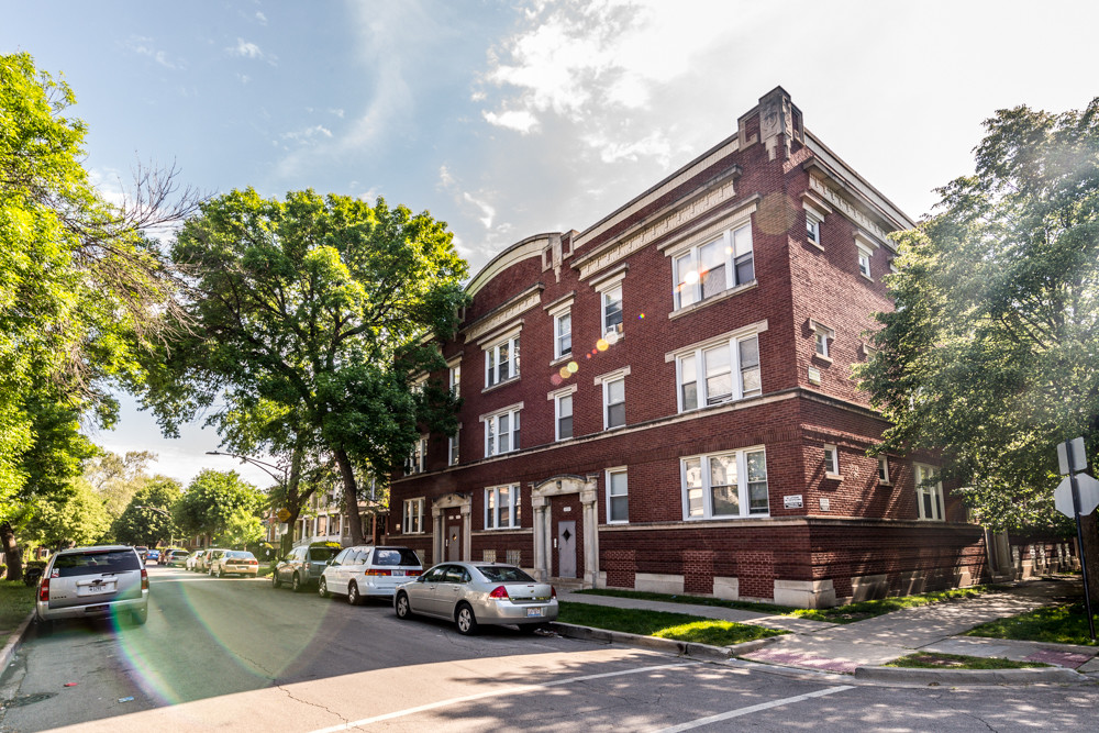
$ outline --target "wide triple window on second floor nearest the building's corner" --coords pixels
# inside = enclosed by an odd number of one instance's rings
[[[759,395],[757,336],[732,338],[681,354],[677,373],[680,412]]]

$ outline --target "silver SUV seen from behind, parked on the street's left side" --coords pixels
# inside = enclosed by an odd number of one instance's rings
[[[136,549],[126,545],[71,547],[49,558],[34,607],[43,629],[63,619],[125,612],[138,624],[148,618],[148,573]]]

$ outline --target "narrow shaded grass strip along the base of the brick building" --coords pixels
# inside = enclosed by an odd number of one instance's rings
[[[740,609],[742,611],[756,611],[758,613],[773,613],[775,615],[789,615],[799,619],[811,619],[813,621],[828,621],[830,623],[854,623],[863,619],[870,619],[882,615],[891,611],[912,608],[915,606],[928,606],[929,603],[941,603],[943,601],[959,600],[963,598],[974,598],[989,590],[987,586],[974,586],[958,590],[942,590],[931,593],[920,593],[918,596],[902,596],[899,598],[882,598],[873,601],[859,601],[846,606],[837,606],[831,609],[792,609],[786,606],[775,606],[774,603],[752,603],[750,601],[726,601],[720,598],[708,598],[706,596],[669,596],[667,593],[650,593],[637,590],[614,590],[610,588],[593,588],[578,591],[580,593],[592,593],[596,596],[617,596],[619,598],[637,598],[642,600],[664,601],[666,603],[687,603],[692,606],[713,606],[719,608]]]

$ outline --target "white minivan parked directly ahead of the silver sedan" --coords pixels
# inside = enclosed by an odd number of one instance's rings
[[[346,596],[358,606],[365,597],[392,598],[397,586],[419,577],[423,564],[408,547],[345,547],[329,560],[321,574],[321,598]]]

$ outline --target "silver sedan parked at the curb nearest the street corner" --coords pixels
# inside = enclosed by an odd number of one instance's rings
[[[557,591],[514,565],[443,563],[397,588],[398,618],[412,614],[454,621],[458,633],[481,624],[517,625],[532,632],[557,618]]]

